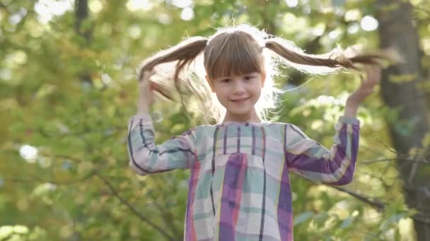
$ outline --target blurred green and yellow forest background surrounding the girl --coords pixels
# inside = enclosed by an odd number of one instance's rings
[[[310,54],[391,48],[359,109],[353,183],[292,175],[296,240],[430,240],[430,1],[0,0],[0,240],[182,240],[189,171],[128,167],[136,68],[155,51],[250,23]],[[276,117],[331,147],[356,73],[284,68]],[[299,87],[296,89],[296,87]],[[157,101],[157,142],[201,123]]]

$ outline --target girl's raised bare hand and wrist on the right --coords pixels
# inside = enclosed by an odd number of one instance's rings
[[[380,66],[371,66],[366,70],[366,77],[361,78],[361,85],[355,92],[349,95],[347,101],[360,104],[369,94],[373,93],[373,87],[380,82]]]

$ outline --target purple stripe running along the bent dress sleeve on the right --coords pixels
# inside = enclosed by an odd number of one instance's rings
[[[353,135],[354,136],[354,135]],[[289,162],[289,168],[303,171],[313,171],[315,173],[335,173],[341,166],[347,151],[347,125],[343,125],[339,130],[340,143],[337,144],[335,156],[331,161],[323,158],[315,158],[307,154],[291,154],[286,152],[286,160]],[[356,149],[355,149],[356,150]]]

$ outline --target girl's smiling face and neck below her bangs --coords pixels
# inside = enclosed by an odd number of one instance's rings
[[[249,73],[240,76],[226,76],[209,80],[212,92],[226,108],[226,121],[259,122],[255,103],[260,99],[265,83],[265,73]]]

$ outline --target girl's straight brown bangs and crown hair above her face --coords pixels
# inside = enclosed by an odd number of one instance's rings
[[[244,32],[223,33],[209,44],[204,67],[210,79],[262,72],[262,48],[252,36]]]

